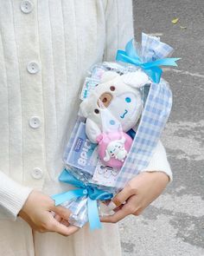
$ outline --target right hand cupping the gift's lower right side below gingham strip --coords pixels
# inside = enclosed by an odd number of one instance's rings
[[[139,215],[163,192],[169,177],[162,172],[143,172],[133,178],[109,204],[115,213],[101,217],[102,222],[116,223],[125,216]]]

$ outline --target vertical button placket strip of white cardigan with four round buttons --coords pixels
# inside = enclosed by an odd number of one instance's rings
[[[35,8],[38,2],[20,0],[14,1],[14,6],[16,23],[22,28],[16,33],[16,48],[18,62],[21,63],[23,182],[29,187],[41,189],[47,165],[39,21],[38,9]]]

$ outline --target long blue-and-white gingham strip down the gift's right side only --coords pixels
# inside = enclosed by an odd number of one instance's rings
[[[143,115],[115,187],[123,188],[133,176],[147,167],[156,148],[172,106],[169,85],[163,79],[159,84],[152,83],[143,109]]]

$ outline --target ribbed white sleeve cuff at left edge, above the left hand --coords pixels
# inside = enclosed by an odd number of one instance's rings
[[[0,171],[0,212],[6,212],[6,217],[16,220],[31,191],[32,188],[23,187]]]

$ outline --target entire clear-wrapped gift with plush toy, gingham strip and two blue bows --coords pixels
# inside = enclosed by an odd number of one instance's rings
[[[99,215],[109,214],[103,202],[148,166],[171,110],[160,67],[176,66],[178,58],[167,57],[172,51],[143,34],[141,44],[131,40],[118,50],[116,62],[90,69],[59,177],[75,189],[52,197],[70,209],[70,224],[99,228]]]

